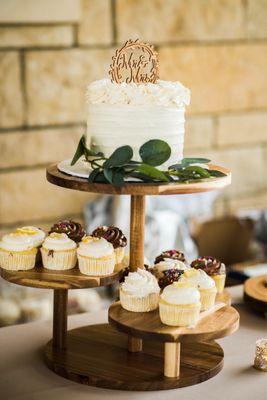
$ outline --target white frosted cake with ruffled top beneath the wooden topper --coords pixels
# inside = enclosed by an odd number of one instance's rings
[[[87,88],[87,147],[106,157],[123,145],[139,148],[150,139],[161,139],[171,147],[167,165],[183,158],[185,106],[190,91],[179,82],[92,82]]]

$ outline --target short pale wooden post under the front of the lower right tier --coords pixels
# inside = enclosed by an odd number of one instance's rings
[[[180,343],[164,344],[164,375],[178,378],[180,374]]]

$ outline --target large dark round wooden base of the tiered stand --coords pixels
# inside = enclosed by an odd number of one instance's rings
[[[183,344],[180,377],[163,375],[163,343],[145,341],[143,351],[129,353],[127,335],[108,324],[68,331],[67,348],[45,348],[45,360],[56,374],[89,386],[120,390],[166,390],[191,386],[216,375],[223,350],[214,341]]]

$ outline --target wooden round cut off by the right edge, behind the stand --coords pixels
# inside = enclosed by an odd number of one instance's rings
[[[266,275],[247,279],[244,284],[244,301],[251,309],[267,317],[266,279]]]

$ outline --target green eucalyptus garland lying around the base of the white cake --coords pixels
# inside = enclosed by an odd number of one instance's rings
[[[183,158],[179,163],[171,165],[166,171],[159,170],[171,155],[171,148],[163,140],[153,139],[144,143],[139,149],[142,161],[134,161],[131,146],[118,147],[110,157],[95,152],[86,147],[85,137],[82,136],[71,161],[74,165],[82,156],[92,168],[89,182],[111,183],[123,186],[126,178],[138,178],[142,182],[190,182],[226,176],[223,172],[205,168],[210,162],[207,158]],[[203,164],[196,165],[196,164]]]

